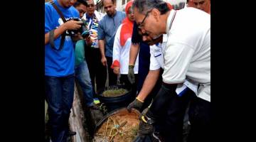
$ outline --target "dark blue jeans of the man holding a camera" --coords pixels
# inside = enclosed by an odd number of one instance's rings
[[[66,142],[68,119],[74,98],[74,75],[66,77],[45,76],[46,101],[48,103],[51,140]]]

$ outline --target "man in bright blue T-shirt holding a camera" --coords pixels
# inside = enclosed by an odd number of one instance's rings
[[[45,87],[48,102],[51,141],[66,142],[68,119],[73,105],[75,56],[70,35],[65,35],[63,46],[60,39],[67,30],[77,30],[80,21],[78,11],[73,7],[76,0],[53,0],[63,13],[67,22],[63,22],[50,2],[45,4]],[[70,21],[69,21],[70,20]],[[54,45],[50,45],[50,31],[53,31]]]

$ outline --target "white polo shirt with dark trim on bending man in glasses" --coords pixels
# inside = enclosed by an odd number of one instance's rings
[[[174,10],[166,22],[163,81],[191,80],[199,84],[198,97],[210,102],[210,14],[194,8]]]

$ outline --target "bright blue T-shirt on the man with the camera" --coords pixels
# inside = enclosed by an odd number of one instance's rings
[[[66,9],[57,0],[53,0],[62,11],[66,20],[69,18],[79,18],[78,11],[73,7]],[[57,11],[48,2],[45,4],[45,33],[58,28],[63,24]],[[55,48],[60,47],[61,35],[54,40]],[[75,54],[74,45],[70,36],[65,36],[65,42],[62,50],[53,50],[50,43],[45,45],[45,75],[52,77],[64,77],[75,72]]]

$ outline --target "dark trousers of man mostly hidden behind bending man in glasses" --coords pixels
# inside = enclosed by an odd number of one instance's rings
[[[156,119],[155,128],[164,141],[181,142],[183,133],[183,118],[186,107],[193,92],[187,89],[181,97],[175,92],[176,87],[170,89],[162,84],[156,94],[150,111]]]

